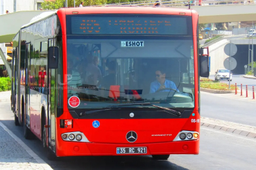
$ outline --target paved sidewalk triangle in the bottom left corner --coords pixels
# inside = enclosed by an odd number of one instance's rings
[[[52,169],[0,122],[0,169]]]

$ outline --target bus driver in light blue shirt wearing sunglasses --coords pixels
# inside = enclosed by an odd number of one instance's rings
[[[161,89],[165,89],[162,91],[167,92],[170,91],[170,89],[174,89],[179,92],[174,82],[166,79],[166,71],[164,71],[164,69],[158,69],[157,71],[155,71],[155,77],[156,81],[151,82],[149,93],[155,93]]]

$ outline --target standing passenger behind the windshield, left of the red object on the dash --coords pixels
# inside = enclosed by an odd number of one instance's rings
[[[94,65],[94,56],[89,54],[87,57],[87,67],[85,68],[85,83],[88,85],[99,85],[101,83],[102,75],[99,67]]]

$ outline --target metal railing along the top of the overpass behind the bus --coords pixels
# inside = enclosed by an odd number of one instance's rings
[[[105,4],[106,6],[154,6],[155,1],[137,1],[137,2],[129,2],[129,3],[116,3],[116,4]],[[161,1],[162,7],[175,7],[175,6],[209,6],[209,5],[241,5],[241,4],[254,4],[254,1],[240,1],[240,0],[221,0],[221,1],[188,1],[188,0],[180,0],[180,1]],[[104,6],[104,5],[101,5]]]

